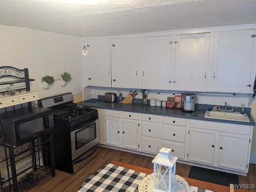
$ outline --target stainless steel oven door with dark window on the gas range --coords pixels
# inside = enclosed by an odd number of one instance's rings
[[[98,117],[90,122],[81,123],[70,132],[72,161],[99,144]]]

